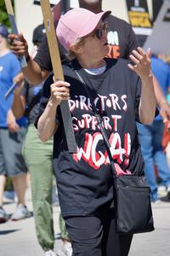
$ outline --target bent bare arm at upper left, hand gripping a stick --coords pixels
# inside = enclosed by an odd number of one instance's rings
[[[20,37],[20,41],[17,40],[18,37]],[[22,34],[20,34],[19,36],[15,34],[10,34],[8,38],[10,38],[12,42],[11,50],[14,52],[14,54],[26,56],[27,67],[24,67],[22,69],[26,80],[30,84],[40,84],[44,79],[48,77],[48,70],[42,69],[41,67],[39,67],[36,61],[33,61],[31,59],[28,53],[28,44]]]

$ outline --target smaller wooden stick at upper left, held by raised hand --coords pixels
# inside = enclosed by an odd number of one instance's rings
[[[7,12],[8,12],[8,19],[9,19],[10,25],[12,27],[12,32],[14,34],[18,35],[19,32],[18,32],[16,22],[15,22],[15,19],[14,19],[14,10],[13,10],[11,0],[5,0],[5,5],[6,5]],[[26,57],[24,55],[20,55],[19,60],[20,60],[20,66],[21,67],[27,67]]]

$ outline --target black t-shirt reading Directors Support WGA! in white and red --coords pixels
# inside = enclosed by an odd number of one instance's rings
[[[139,147],[136,121],[139,120],[141,81],[127,67],[127,61],[105,59],[107,69],[100,75],[86,73],[77,61],[63,67],[71,84],[69,101],[77,154],[68,152],[60,109],[59,128],[54,135],[54,171],[63,216],[90,215],[113,201],[111,166],[90,99],[74,69],[82,73],[103,118],[111,152],[123,171],[142,175],[144,161]],[[123,75],[122,75],[123,74]],[[90,81],[90,82],[89,82]],[[50,96],[51,75],[44,84],[41,113]],[[40,114],[41,114],[40,113]]]

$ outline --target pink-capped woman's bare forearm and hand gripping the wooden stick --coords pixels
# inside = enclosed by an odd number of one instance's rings
[[[63,81],[58,81],[51,84],[51,96],[44,112],[37,122],[37,129],[42,142],[48,141],[50,137],[54,136],[55,131],[57,131],[57,107],[61,101],[69,99],[69,86],[70,84]]]

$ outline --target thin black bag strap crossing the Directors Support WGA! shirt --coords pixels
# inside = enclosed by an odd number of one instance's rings
[[[104,141],[105,141],[106,150],[107,150],[107,153],[109,155],[109,159],[111,161],[111,171],[112,171],[114,182],[115,182],[115,189],[117,189],[117,183],[116,183],[117,175],[116,175],[116,168],[115,168],[115,165],[114,165],[114,160],[113,160],[112,154],[111,154],[111,144],[110,144],[110,142],[108,140],[108,137],[106,135],[105,128],[102,125],[102,119],[101,119],[101,117],[100,117],[100,115],[98,113],[97,108],[94,105],[93,97],[91,96],[90,91],[88,90],[88,86],[87,86],[86,82],[84,81],[84,79],[82,78],[81,74],[77,70],[75,70],[75,73],[77,73],[78,79],[81,81],[84,90],[86,90],[89,98],[91,99],[92,109],[93,109],[93,111],[95,113],[95,117],[96,117],[96,119],[98,121],[99,128],[101,130],[102,136],[103,136]]]

